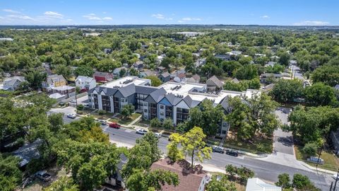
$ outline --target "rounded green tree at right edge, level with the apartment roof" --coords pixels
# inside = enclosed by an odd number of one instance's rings
[[[336,105],[338,103],[334,88],[323,83],[314,83],[312,86],[306,87],[305,97],[307,103],[314,106]]]

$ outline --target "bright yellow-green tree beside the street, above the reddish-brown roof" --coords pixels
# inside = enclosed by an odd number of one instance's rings
[[[212,149],[206,146],[203,141],[205,138],[206,135],[203,134],[201,127],[194,127],[182,135],[182,152],[184,156],[191,158],[191,168],[194,168],[194,161],[202,162],[204,159],[210,158]]]

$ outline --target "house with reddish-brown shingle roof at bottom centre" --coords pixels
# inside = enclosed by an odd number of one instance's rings
[[[208,174],[201,165],[191,168],[191,164],[186,160],[175,163],[169,161],[169,158],[163,158],[150,166],[151,170],[169,170],[179,176],[179,185],[162,185],[161,190],[164,191],[203,191],[210,180],[211,175]]]

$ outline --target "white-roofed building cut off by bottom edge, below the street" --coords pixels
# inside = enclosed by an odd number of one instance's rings
[[[259,178],[249,178],[246,184],[246,191],[281,191],[282,188],[263,182]]]

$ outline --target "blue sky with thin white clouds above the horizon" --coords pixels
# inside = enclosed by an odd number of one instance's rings
[[[0,25],[339,25],[338,0],[1,0]]]

